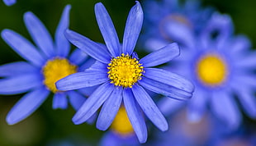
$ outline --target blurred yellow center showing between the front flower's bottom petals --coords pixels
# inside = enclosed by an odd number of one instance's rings
[[[126,113],[126,108],[121,106],[116,114],[116,118],[111,124],[111,130],[119,135],[127,136],[134,132]]]

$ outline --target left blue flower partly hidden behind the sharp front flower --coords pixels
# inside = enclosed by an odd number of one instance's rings
[[[2,30],[2,39],[27,62],[13,62],[0,66],[0,94],[26,93],[7,114],[10,125],[30,116],[45,101],[50,92],[54,94],[53,108],[66,108],[69,101],[75,109],[85,98],[78,92],[63,92],[55,82],[67,75],[83,70],[88,56],[76,49],[70,56],[70,43],[64,37],[69,27],[70,6],[64,8],[55,34],[55,43],[42,22],[30,11],[24,15],[26,28],[36,46],[12,30]]]

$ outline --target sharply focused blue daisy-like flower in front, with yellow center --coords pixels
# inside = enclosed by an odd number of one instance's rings
[[[56,82],[57,89],[72,90],[100,84],[73,116],[74,124],[87,121],[102,106],[97,118],[97,128],[107,130],[123,101],[135,134],[140,143],[145,143],[147,128],[140,108],[159,130],[168,130],[167,121],[145,89],[181,100],[192,96],[191,82],[172,72],[151,68],[177,57],[178,45],[168,44],[139,59],[133,50],[143,23],[140,2],[136,2],[130,10],[122,44],[102,3],[95,5],[95,13],[107,48],[81,34],[67,30],[65,34],[67,39],[95,58],[97,62],[88,70],[69,75]]]

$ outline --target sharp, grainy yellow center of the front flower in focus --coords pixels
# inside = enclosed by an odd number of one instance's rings
[[[143,66],[135,58],[121,54],[120,57],[112,58],[108,64],[108,78],[116,86],[132,87],[138,80],[141,80]]]

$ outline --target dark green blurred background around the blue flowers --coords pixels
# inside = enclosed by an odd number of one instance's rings
[[[107,7],[121,39],[126,17],[130,7],[135,4],[134,0],[17,0],[12,7],[7,7],[1,1],[0,30],[6,28],[15,30],[31,40],[23,22],[23,14],[32,11],[54,36],[64,6],[71,4],[70,28],[103,43],[94,15],[94,4],[97,2],[102,2]],[[201,2],[202,6],[216,7],[221,13],[229,14],[235,24],[235,34],[246,34],[251,39],[253,47],[256,47],[256,1],[201,0]],[[0,64],[20,60],[23,59],[0,39]],[[5,121],[7,112],[21,96],[0,96],[0,145],[97,145],[104,134],[93,124],[73,125],[71,121],[75,113],[73,108],[53,110],[52,98],[47,98],[45,103],[26,120],[16,125],[7,125]],[[244,115],[243,126],[254,131],[256,135],[255,120]]]

